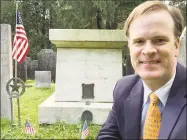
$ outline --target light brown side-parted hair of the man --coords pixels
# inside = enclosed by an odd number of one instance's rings
[[[174,21],[174,35],[176,38],[180,37],[184,26],[184,18],[180,10],[173,6],[167,6],[161,1],[146,1],[134,8],[124,25],[125,35],[129,37],[129,27],[133,20],[150,11],[158,10],[168,11]]]

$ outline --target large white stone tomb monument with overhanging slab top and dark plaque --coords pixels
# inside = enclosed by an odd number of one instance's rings
[[[55,93],[39,106],[39,123],[103,124],[122,77],[123,30],[51,29],[57,47]]]

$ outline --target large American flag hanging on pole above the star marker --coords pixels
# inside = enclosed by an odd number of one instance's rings
[[[13,42],[12,58],[19,63],[23,62],[29,51],[28,39],[21,19],[21,14],[17,11],[16,31]]]

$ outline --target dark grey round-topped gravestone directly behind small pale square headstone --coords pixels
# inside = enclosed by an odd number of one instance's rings
[[[38,53],[38,70],[51,71],[51,80],[55,82],[56,52],[52,49],[42,49]]]

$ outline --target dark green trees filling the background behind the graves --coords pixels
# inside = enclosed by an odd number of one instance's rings
[[[12,39],[16,21],[15,1],[1,0],[1,23],[12,26]],[[50,28],[123,29],[129,13],[144,1],[146,0],[19,0],[19,11],[29,39],[28,56],[37,59],[37,53],[41,49],[52,48],[56,51],[56,47],[49,41]],[[169,3],[181,9],[186,21],[185,0],[169,0]]]

